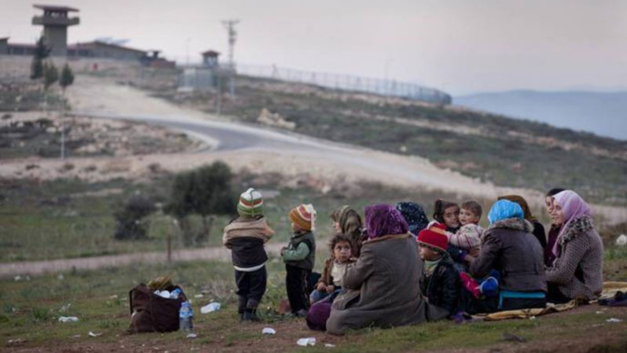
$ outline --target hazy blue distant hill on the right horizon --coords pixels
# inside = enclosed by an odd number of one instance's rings
[[[513,90],[453,97],[453,104],[627,140],[627,92]]]

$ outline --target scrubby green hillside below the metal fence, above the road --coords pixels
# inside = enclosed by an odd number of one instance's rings
[[[593,202],[627,203],[623,183],[627,141],[459,107],[312,85],[236,77],[235,87],[235,97],[224,95],[219,105],[222,114],[234,119],[281,128],[293,125],[294,131],[318,138],[423,156],[500,186],[539,191],[561,186]],[[217,108],[214,92],[162,88],[154,95],[206,112]]]

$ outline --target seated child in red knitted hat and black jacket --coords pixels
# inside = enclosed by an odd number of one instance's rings
[[[424,278],[420,288],[429,304],[455,314],[460,286],[453,260],[446,252],[446,226],[433,224],[418,233],[419,255],[424,261]]]

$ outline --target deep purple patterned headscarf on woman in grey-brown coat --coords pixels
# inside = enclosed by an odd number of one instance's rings
[[[366,206],[365,214],[368,239],[388,234],[405,234],[409,230],[403,214],[392,205]]]

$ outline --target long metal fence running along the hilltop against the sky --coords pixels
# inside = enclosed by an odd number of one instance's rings
[[[451,96],[441,90],[397,80],[372,79],[341,73],[293,70],[291,68],[277,67],[276,65],[237,64],[236,72],[238,75],[266,77],[268,79],[319,85],[331,89],[403,97],[437,104],[451,103]]]

